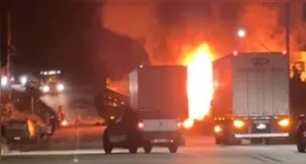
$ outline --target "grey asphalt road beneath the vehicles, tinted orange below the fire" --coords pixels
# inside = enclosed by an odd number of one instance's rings
[[[170,154],[165,148],[154,148],[153,153],[129,154],[128,150],[115,149],[114,154],[105,155],[101,136],[104,127],[63,128],[49,140],[44,140],[28,150],[12,150],[4,156],[8,164],[255,164],[285,163],[305,164],[306,153],[297,153],[295,145],[233,145],[216,147],[211,136],[187,136],[186,147]],[[79,133],[79,138],[78,138]],[[79,141],[79,142],[78,142]],[[78,160],[78,161],[73,161]]]

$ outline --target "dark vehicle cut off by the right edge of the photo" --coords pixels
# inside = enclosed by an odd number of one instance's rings
[[[299,116],[299,121],[296,128],[296,145],[298,152],[305,152],[306,149],[306,117]]]

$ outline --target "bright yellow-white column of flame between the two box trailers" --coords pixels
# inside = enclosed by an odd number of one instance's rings
[[[201,120],[208,115],[213,96],[212,50],[201,44],[186,54],[184,65],[188,66],[189,119]]]

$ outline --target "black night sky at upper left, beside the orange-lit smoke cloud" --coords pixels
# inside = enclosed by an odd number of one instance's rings
[[[105,51],[102,48],[107,48],[106,56],[111,56],[114,58],[111,61],[120,61],[119,58],[128,57],[127,51],[132,52],[130,38],[110,33],[102,26],[99,15],[102,3],[79,0],[9,0],[9,2],[7,11],[12,14],[13,44],[16,49],[13,62],[16,68],[59,68],[79,77],[87,77],[103,70],[107,70],[107,73],[111,70],[114,73],[121,66],[106,69],[102,67],[104,63],[94,63],[98,61],[97,56]],[[3,12],[1,17],[2,28],[4,26],[5,30]],[[4,36],[2,34],[2,44]],[[114,44],[109,45],[108,39]],[[127,49],[114,51],[120,49],[118,46]],[[109,50],[109,47],[113,49]],[[119,57],[119,54],[123,57]],[[116,63],[121,65],[119,61]],[[133,66],[120,69],[131,67]]]

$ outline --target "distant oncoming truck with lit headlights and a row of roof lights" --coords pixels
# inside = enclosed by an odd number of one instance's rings
[[[62,93],[66,90],[61,72],[59,70],[40,71],[40,91],[43,93]]]

